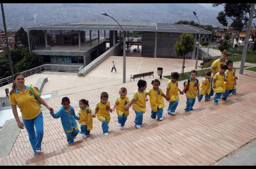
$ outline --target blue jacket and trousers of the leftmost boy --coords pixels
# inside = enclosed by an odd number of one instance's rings
[[[55,119],[60,117],[62,127],[66,134],[67,142],[73,143],[74,137],[79,133],[76,123],[78,116],[76,116],[74,108],[69,106],[68,109],[65,109],[63,106],[61,106],[57,113],[50,113],[50,115],[52,115],[52,117]]]

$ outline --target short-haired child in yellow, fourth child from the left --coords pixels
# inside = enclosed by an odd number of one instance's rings
[[[129,110],[125,109],[125,106],[130,102],[127,95],[127,89],[125,87],[121,87],[119,90],[120,96],[116,98],[116,103],[114,105],[113,110],[116,108],[116,113],[118,115],[117,117],[117,124],[121,126],[121,129],[123,130],[124,124],[127,120],[127,116],[129,115]]]

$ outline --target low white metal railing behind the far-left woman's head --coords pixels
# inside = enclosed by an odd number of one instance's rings
[[[44,64],[42,66],[38,66],[36,68],[32,68],[29,70],[26,70],[24,72],[21,72],[25,77],[31,76],[36,73],[41,73],[45,71],[57,71],[57,72],[78,72],[83,66],[79,65],[53,65],[53,64]],[[4,85],[9,85],[12,83],[12,76],[5,77],[3,79],[0,79],[0,85],[1,87]]]

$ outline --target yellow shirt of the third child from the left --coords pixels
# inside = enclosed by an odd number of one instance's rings
[[[109,107],[110,107],[109,101],[107,101],[106,104],[101,103],[101,101],[99,101],[96,104],[96,108],[98,108],[97,117],[100,121],[107,119],[107,123],[109,123],[110,121]]]

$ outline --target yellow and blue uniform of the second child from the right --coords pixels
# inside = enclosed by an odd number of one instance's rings
[[[215,103],[218,103],[218,101],[220,100],[220,96],[225,92],[224,77],[225,73],[220,72],[216,73],[213,77],[213,80],[215,80],[215,88],[213,88],[215,96],[213,102]]]

